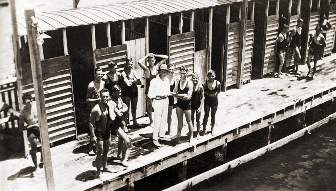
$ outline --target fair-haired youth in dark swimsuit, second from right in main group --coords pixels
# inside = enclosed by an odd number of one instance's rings
[[[201,127],[201,111],[202,111],[202,106],[204,102],[204,89],[201,84],[199,84],[200,76],[198,73],[193,73],[192,75],[192,81],[194,84],[193,88],[193,94],[191,95],[191,122],[193,123],[194,126],[194,120],[195,120],[195,111],[196,111],[196,125],[197,125],[197,140],[200,139],[200,127]]]

